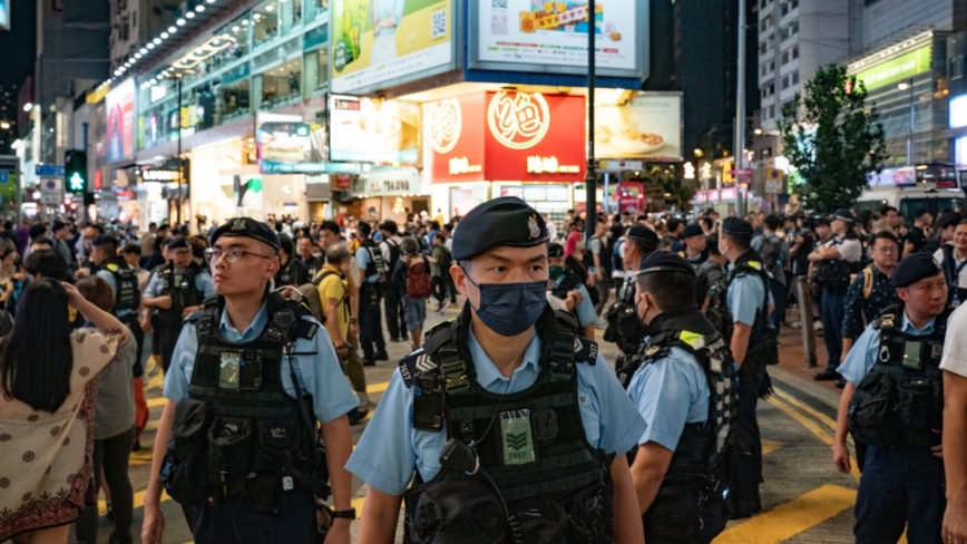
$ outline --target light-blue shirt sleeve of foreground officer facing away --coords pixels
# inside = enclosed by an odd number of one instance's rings
[[[705,372],[682,348],[643,365],[628,383],[628,396],[647,425],[638,444],[653,441],[674,451],[685,424],[709,419],[709,395]]]

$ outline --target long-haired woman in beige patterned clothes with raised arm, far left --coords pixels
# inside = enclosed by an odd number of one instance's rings
[[[97,330],[71,331],[68,304]],[[38,279],[25,290],[13,332],[0,340],[0,541],[67,542],[92,478],[88,385],[129,338],[68,283]]]

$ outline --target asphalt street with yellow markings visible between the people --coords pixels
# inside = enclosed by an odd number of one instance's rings
[[[458,304],[451,305],[445,315],[430,310],[427,329],[442,319],[458,314]],[[598,330],[598,340],[604,331]],[[778,367],[769,372],[775,387],[775,395],[759,404],[759,424],[763,438],[763,472],[765,484],[762,489],[762,513],[750,519],[732,522],[729,528],[716,538],[716,543],[749,544],[774,542],[853,542],[852,506],[859,473],[852,475],[837,473],[832,466],[831,445],[834,431],[836,407],[839,394],[829,382],[818,385],[812,381],[812,370],[805,369],[802,358],[802,342],[799,331],[785,328],[781,337],[781,359]],[[818,338],[818,359],[826,360],[821,337]],[[602,342],[602,352],[614,360],[614,344]],[[409,346],[389,343],[390,358],[398,360],[406,356]],[[369,394],[378,402],[395,369],[394,362],[380,362],[367,368]],[[140,527],[144,513],[144,489],[150,467],[152,445],[157,420],[160,417],[163,378],[159,368],[149,370],[146,380],[148,405],[152,420],[141,437],[143,449],[134,453],[130,459],[131,482],[135,486],[135,527]],[[365,424],[353,427],[353,439],[359,439]],[[856,464],[853,464],[854,466]],[[358,478],[353,482],[353,506],[362,512],[367,486]],[[162,509],[165,514],[165,543],[187,543],[192,534],[184,522],[177,503],[164,497]],[[106,505],[101,505],[101,514]],[[402,517],[402,516],[401,516]],[[107,543],[110,522],[101,517],[99,542]],[[355,527],[353,528],[355,534]],[[402,542],[402,528],[398,531],[397,542]],[[71,541],[74,542],[74,541]],[[136,536],[136,542],[139,538]]]

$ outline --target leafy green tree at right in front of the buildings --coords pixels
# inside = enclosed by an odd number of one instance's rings
[[[803,184],[795,190],[808,208],[831,213],[849,207],[868,186],[867,174],[880,173],[889,157],[883,126],[867,89],[846,68],[820,68],[805,95],[782,108],[779,132],[789,164]]]

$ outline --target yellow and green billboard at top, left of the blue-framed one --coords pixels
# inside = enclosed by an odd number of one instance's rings
[[[452,59],[450,0],[334,0],[334,93],[402,78]]]

